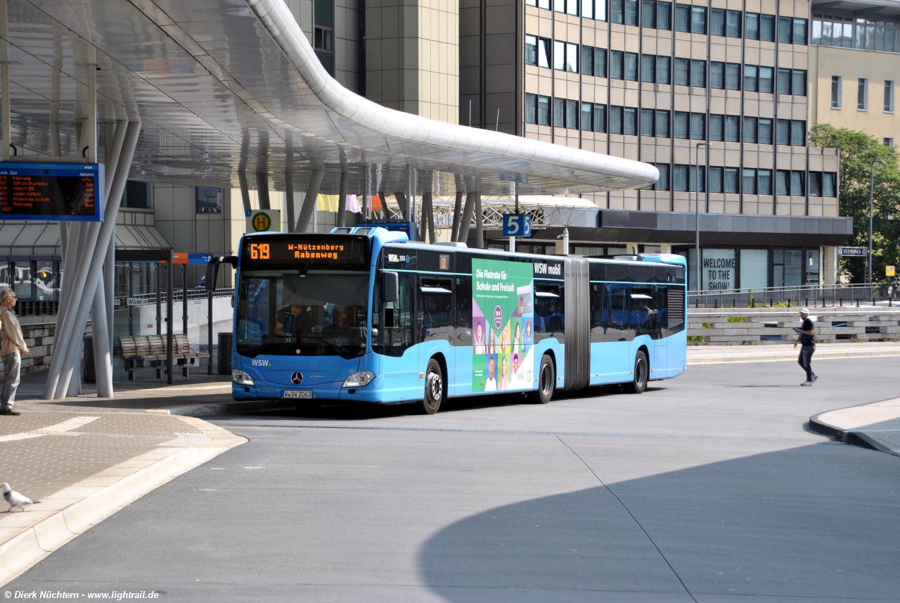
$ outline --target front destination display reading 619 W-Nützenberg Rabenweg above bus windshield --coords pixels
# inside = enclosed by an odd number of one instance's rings
[[[327,240],[310,238],[303,242],[249,239],[244,250],[254,264],[306,264],[321,266],[368,266],[368,241],[365,238]]]

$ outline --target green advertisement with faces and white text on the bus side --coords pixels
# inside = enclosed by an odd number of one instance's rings
[[[472,260],[473,392],[534,389],[532,264]]]

